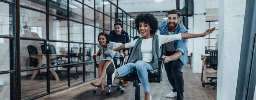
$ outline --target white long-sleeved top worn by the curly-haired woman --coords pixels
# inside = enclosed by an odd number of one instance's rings
[[[133,40],[132,42],[128,42],[125,44],[125,48],[134,47],[135,43],[138,39]],[[152,60],[152,38],[143,39],[141,42],[141,53],[142,53],[142,60],[145,62],[151,62]],[[174,40],[182,40],[181,34],[175,34],[175,35],[159,35],[158,41],[159,41],[159,49],[160,45],[172,42]]]

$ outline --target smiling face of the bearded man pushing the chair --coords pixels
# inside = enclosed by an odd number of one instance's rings
[[[174,32],[179,23],[179,18],[177,14],[169,14],[167,19],[167,28],[169,32]]]

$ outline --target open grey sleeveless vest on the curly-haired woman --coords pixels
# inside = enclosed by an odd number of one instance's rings
[[[133,51],[127,63],[135,63],[139,60],[142,60],[141,53],[141,42],[143,37],[139,37],[137,42],[133,47]],[[161,57],[161,50],[159,49],[158,35],[154,35],[152,40],[152,55],[153,58],[151,62],[148,62],[149,65],[153,67],[153,70],[150,70],[151,73],[158,72],[158,58]]]

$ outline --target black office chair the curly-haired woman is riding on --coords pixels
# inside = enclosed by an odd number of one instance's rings
[[[137,39],[138,36],[134,37],[133,40]],[[132,53],[133,48],[131,49],[130,55]],[[161,51],[163,52],[163,49],[161,47]],[[130,55],[128,57],[128,60],[130,58]],[[149,70],[148,70],[148,82],[161,82],[162,81],[162,72],[163,72],[163,58],[159,57],[158,58],[158,72],[152,74]],[[140,80],[138,78],[138,74],[137,71],[134,70],[132,73],[125,75],[124,77],[118,77],[119,79],[123,79],[125,81],[131,81],[133,82],[133,86],[135,87],[135,100],[140,100]]]

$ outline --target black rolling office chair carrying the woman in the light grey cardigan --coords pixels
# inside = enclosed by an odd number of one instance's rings
[[[101,55],[101,53],[97,55],[97,56],[99,56],[99,59],[100,59],[100,55]],[[121,59],[120,59],[120,63],[121,63],[121,60],[123,60],[122,58],[123,58],[123,57],[121,57]],[[99,67],[99,64],[97,64],[97,60],[96,60],[96,57],[95,57],[95,56],[93,56],[93,60],[94,60],[95,72],[96,72],[96,67],[98,68],[98,67]],[[115,84],[112,84],[112,85],[104,85],[104,87],[108,87],[107,95],[110,95],[110,87],[117,87],[117,90],[120,90],[120,88],[121,88],[122,90],[121,90],[120,92],[121,92],[121,93],[124,92],[123,87],[121,87],[121,86],[119,86],[119,85],[115,85]],[[96,89],[97,89],[97,88],[98,88],[98,87],[95,87],[95,88],[94,88],[94,90],[93,90],[93,93],[94,93],[94,94],[96,93]]]

